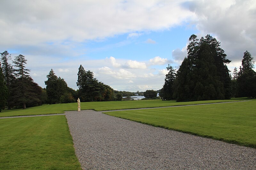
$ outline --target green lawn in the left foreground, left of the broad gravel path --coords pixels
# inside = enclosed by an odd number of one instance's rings
[[[81,169],[64,115],[0,119],[0,169]]]

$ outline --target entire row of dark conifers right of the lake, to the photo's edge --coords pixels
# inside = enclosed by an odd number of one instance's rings
[[[196,101],[222,100],[231,97],[255,97],[256,74],[253,57],[246,51],[240,71],[232,80],[220,42],[210,35],[200,40],[192,34],[179,70],[168,65],[168,74],[159,96],[163,100]]]

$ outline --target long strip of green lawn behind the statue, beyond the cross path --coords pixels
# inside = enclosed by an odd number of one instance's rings
[[[207,100],[207,101],[192,101],[192,102],[176,102],[162,101],[162,100],[131,100],[131,101],[107,101],[107,102],[82,102],[81,109],[87,110],[92,109],[95,111],[104,110],[118,110],[118,109],[132,109],[132,108],[147,108],[147,107],[164,107],[164,106],[177,106],[177,105],[190,105],[190,104],[201,104],[201,103],[216,103],[226,101],[237,101],[243,99],[232,99],[232,100]],[[67,104],[54,104],[44,105],[38,107],[30,107],[27,109],[12,109],[3,110],[0,112],[0,117],[6,116],[21,116],[21,115],[46,115],[46,114],[59,114],[64,111],[77,110],[77,103]]]

